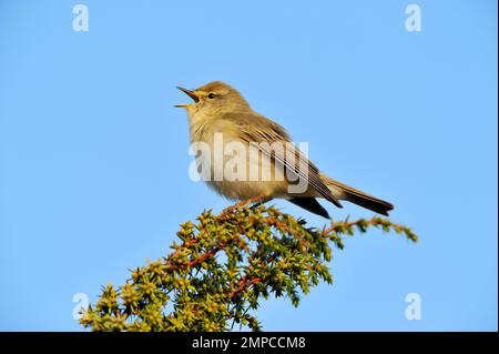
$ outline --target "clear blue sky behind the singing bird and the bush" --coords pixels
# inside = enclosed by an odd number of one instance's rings
[[[80,331],[74,293],[94,301],[228,204],[189,179],[172,107],[176,84],[212,80],[420,236],[347,240],[335,284],[264,303],[264,330],[497,330],[496,1],[413,1],[421,32],[409,1],[81,2],[89,32],[72,30],[78,1],[0,0],[0,330]]]

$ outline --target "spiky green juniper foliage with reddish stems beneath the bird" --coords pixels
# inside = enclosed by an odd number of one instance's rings
[[[202,213],[177,232],[172,254],[132,271],[121,287],[106,285],[80,320],[93,331],[259,331],[251,310],[262,297],[287,296],[294,306],[320,281],[333,283],[329,242],[369,226],[416,242],[410,229],[387,219],[333,222],[324,230],[273,206],[236,204]]]

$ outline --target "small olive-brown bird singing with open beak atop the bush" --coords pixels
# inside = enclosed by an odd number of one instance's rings
[[[197,168],[206,183],[225,198],[262,203],[274,198],[286,199],[324,218],[329,215],[316,198],[326,199],[338,208],[343,208],[339,201],[349,201],[383,215],[388,215],[388,211],[394,209],[388,202],[320,173],[296,148],[292,155],[287,150],[286,153],[276,153],[269,148],[271,144],[292,144],[286,130],[253,111],[243,95],[231,85],[214,81],[195,90],[177,88],[194,100],[190,104],[175,104],[187,111],[191,142],[208,148],[196,155]],[[217,143],[222,146],[217,146]],[[245,146],[245,150],[240,149],[238,153],[224,154],[216,160],[217,149],[226,152],[227,148],[233,145]],[[252,154],[251,146],[254,146],[259,155]],[[226,165],[234,162],[232,160],[235,154],[244,163],[237,166],[236,178],[224,178],[226,174],[220,171],[227,171]],[[269,166],[271,173],[263,178],[265,165]],[[217,168],[221,168],[218,172]],[[228,171],[234,172],[233,169]],[[248,178],[247,171],[257,171],[258,178]],[[296,188],[293,190],[293,185],[296,186],[293,182],[299,180],[305,181],[306,186],[298,191]]]

